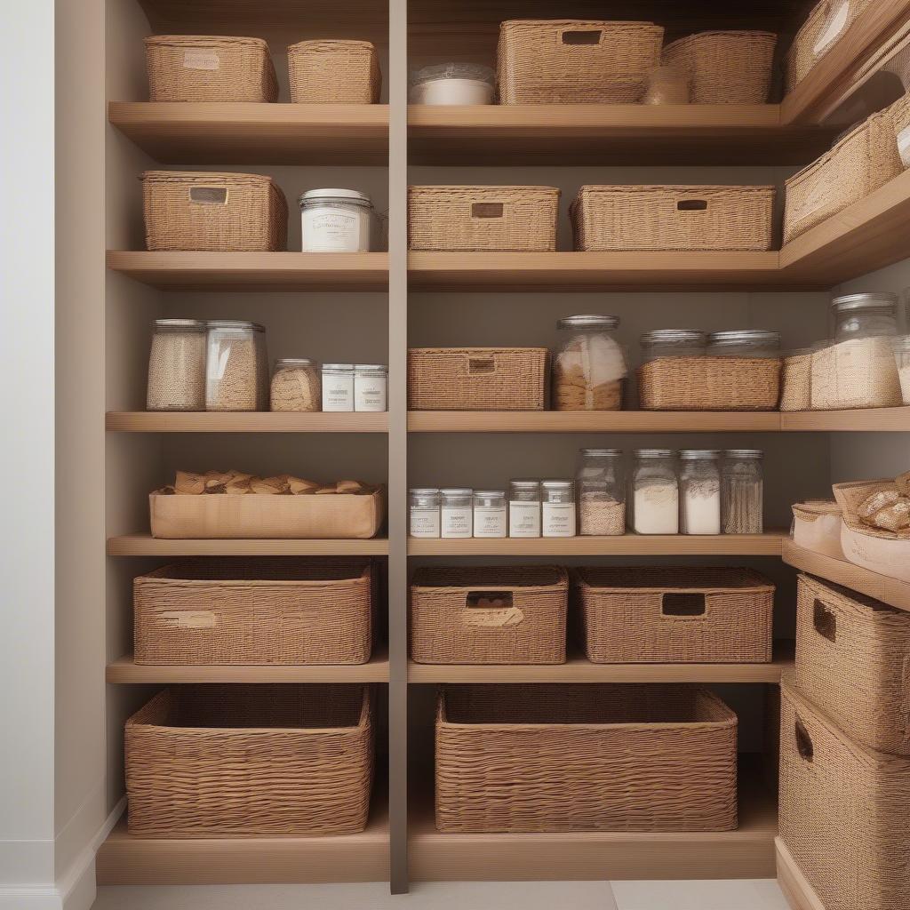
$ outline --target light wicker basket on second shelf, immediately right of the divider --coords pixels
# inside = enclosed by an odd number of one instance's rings
[[[556,249],[555,187],[410,187],[411,249]]]

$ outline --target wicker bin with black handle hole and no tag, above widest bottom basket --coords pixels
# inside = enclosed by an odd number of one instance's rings
[[[594,663],[764,663],[774,586],[748,569],[581,569],[575,597]]]

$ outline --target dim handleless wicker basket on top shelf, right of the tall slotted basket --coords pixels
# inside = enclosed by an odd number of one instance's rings
[[[700,32],[663,48],[663,66],[689,76],[697,105],[763,105],[771,86],[777,35]]]

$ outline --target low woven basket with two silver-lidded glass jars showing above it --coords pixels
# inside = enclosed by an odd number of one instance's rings
[[[747,357],[662,357],[638,369],[642,410],[774,410],[781,361]]]

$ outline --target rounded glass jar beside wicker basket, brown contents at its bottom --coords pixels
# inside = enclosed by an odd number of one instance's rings
[[[553,410],[621,410],[622,380],[629,372],[613,333],[615,316],[567,316],[556,324],[565,333],[553,359]]]

